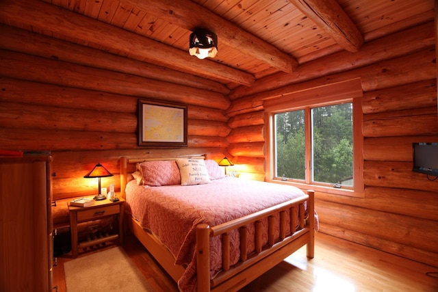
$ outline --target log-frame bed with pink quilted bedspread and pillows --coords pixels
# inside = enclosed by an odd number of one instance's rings
[[[181,291],[237,291],[304,245],[313,258],[313,191],[231,178],[215,163],[120,158],[128,228]]]

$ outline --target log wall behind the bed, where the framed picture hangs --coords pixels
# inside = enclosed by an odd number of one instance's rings
[[[227,155],[229,90],[220,83],[14,27],[0,31],[0,148],[51,151],[55,200],[96,193],[97,181],[83,176],[97,162],[114,174],[102,185],[119,189],[122,155]],[[188,105],[188,147],[137,146],[138,98]]]

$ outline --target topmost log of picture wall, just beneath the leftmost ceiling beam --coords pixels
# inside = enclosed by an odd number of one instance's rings
[[[90,47],[73,44],[65,40],[43,36],[23,29],[17,29],[0,24],[0,48],[57,59],[59,61],[75,63],[83,66],[102,68],[129,75],[137,75],[149,79],[157,79],[170,83],[187,85],[221,94],[229,94],[230,90],[223,84],[210,79],[190,75],[186,72],[172,70],[140,62],[136,59],[113,55]],[[105,60],[105,62],[102,62]]]

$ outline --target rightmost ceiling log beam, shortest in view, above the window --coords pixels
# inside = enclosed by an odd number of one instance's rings
[[[289,0],[302,13],[343,49],[355,53],[363,44],[363,36],[336,0]]]

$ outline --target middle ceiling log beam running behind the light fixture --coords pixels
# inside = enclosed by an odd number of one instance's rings
[[[290,73],[298,66],[294,57],[288,55],[254,36],[240,29],[237,25],[224,20],[213,12],[203,8],[190,0],[119,0],[144,12],[151,13],[158,18],[183,27],[190,31],[196,28],[205,28],[218,36],[219,45],[226,44],[259,59],[283,72]],[[187,40],[189,43],[189,40]]]

